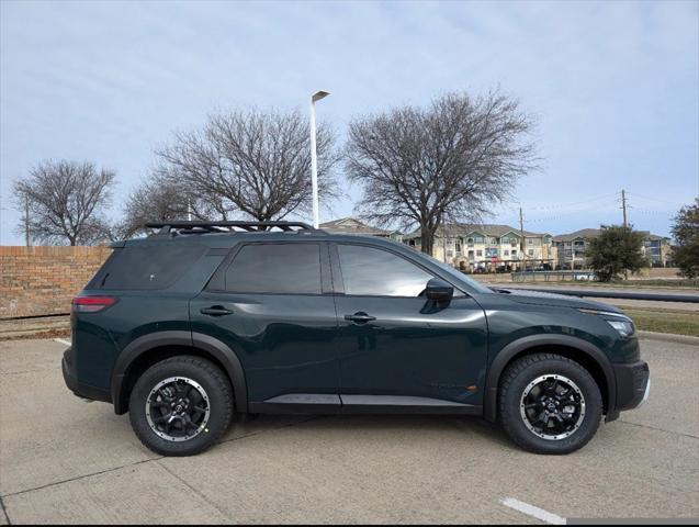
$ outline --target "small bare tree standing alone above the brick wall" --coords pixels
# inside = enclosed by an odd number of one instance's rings
[[[98,170],[89,161],[41,162],[14,183],[22,212],[18,232],[29,227],[33,239],[49,244],[89,245],[105,239],[109,225],[103,211],[110,204],[114,177],[113,171]]]

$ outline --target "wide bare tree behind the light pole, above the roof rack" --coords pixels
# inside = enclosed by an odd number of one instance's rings
[[[300,112],[258,110],[210,115],[202,130],[174,135],[157,155],[170,179],[201,198],[215,215],[281,220],[311,208],[308,123]],[[330,130],[318,127],[318,190],[337,195],[339,160]]]

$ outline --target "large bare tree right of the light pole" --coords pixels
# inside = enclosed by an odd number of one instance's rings
[[[498,90],[448,93],[427,109],[403,106],[350,123],[347,170],[363,186],[360,213],[417,226],[431,254],[449,221],[474,221],[535,168],[532,119]]]

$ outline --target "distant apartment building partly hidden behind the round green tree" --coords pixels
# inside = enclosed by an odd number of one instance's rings
[[[570,234],[554,236],[553,245],[556,251],[560,269],[587,269],[589,262],[586,257],[589,240],[599,236],[599,228],[583,228]],[[652,267],[669,267],[672,265],[672,247],[668,237],[642,231],[644,238],[641,250]]]

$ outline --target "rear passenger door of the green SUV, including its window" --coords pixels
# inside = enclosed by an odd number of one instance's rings
[[[238,355],[250,411],[270,410],[256,410],[260,403],[339,406],[327,244],[237,246],[190,302],[190,314],[193,332],[218,338]]]

